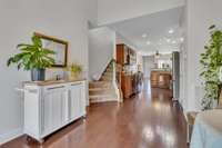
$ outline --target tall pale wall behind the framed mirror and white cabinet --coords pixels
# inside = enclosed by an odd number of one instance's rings
[[[16,46],[29,42],[33,31],[68,40],[69,61],[83,65],[87,72],[88,19],[97,22],[95,8],[95,0],[0,1],[0,144],[23,127],[23,100],[14,88],[30,80],[30,73],[6,66]]]

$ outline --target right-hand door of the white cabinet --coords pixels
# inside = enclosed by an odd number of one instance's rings
[[[70,120],[81,117],[82,83],[70,85]]]

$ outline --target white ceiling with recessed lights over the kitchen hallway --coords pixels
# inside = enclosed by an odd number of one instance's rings
[[[155,51],[169,53],[178,51],[183,41],[179,24],[181,14],[182,7],[112,23],[109,27],[131,42],[141,55],[152,55]]]

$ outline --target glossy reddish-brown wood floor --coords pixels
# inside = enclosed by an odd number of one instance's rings
[[[92,105],[85,121],[58,131],[42,146],[20,137],[1,148],[186,148],[185,121],[170,96],[169,90],[149,95],[145,89],[124,103]]]

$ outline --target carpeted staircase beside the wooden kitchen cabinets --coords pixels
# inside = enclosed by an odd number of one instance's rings
[[[111,61],[100,80],[89,83],[90,102],[118,101],[118,95],[113,85],[114,62]]]

